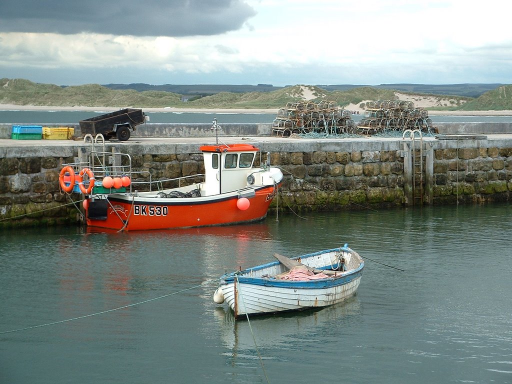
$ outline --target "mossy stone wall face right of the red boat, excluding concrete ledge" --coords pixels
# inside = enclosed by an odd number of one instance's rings
[[[316,211],[511,200],[512,147],[462,146],[431,152],[434,158],[430,175],[424,169],[421,197],[414,197],[411,190],[408,196],[412,175],[404,169],[407,157],[402,150],[273,154],[272,163],[281,164],[289,175],[280,205]]]

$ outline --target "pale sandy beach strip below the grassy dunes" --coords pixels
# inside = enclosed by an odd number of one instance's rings
[[[428,102],[416,100],[415,105],[429,108]],[[0,111],[83,111],[83,112],[114,112],[126,106],[52,106],[52,105],[15,105],[0,104]],[[345,109],[364,114],[365,110],[358,105],[347,105]],[[277,114],[278,109],[200,109],[200,108],[142,108],[144,112],[176,112],[176,113],[237,113],[237,114]],[[512,116],[512,110],[507,111],[429,111],[431,116]]]

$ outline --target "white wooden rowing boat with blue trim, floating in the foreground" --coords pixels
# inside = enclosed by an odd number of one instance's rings
[[[319,308],[355,294],[365,262],[345,244],[222,276],[214,294],[236,318],[246,315]]]

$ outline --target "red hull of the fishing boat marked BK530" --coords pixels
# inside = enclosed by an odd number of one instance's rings
[[[122,199],[109,195],[110,204],[106,211],[106,219],[87,219],[93,227],[148,230],[167,228],[189,228],[212,225],[226,225],[262,220],[276,189],[273,186],[261,188],[249,199],[249,207],[238,208],[238,196],[225,199],[216,197],[214,200],[201,199]]]

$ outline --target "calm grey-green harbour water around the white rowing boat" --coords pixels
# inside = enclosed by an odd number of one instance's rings
[[[511,214],[504,203],[0,231],[0,382],[510,383]],[[348,302],[250,323],[212,301],[216,283],[198,287],[274,252],[345,242],[405,271],[367,260]]]

